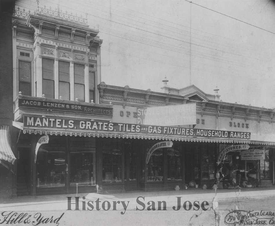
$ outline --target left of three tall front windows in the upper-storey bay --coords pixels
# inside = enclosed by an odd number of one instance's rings
[[[42,59],[43,94],[54,98],[54,60]]]

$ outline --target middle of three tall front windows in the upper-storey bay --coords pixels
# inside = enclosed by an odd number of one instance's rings
[[[59,96],[63,100],[70,99],[70,63],[58,62]]]

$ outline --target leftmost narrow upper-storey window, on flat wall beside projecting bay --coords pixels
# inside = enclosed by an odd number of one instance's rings
[[[19,61],[19,91],[31,95],[31,62]]]

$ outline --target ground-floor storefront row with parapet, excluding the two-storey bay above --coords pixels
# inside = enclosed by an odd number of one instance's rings
[[[98,90],[98,104],[17,97],[15,116],[22,115],[18,167],[24,159],[20,171],[32,172],[30,194],[75,193],[76,185],[79,192],[97,193],[184,189],[190,181],[210,188],[223,177],[239,184],[247,178],[261,186],[274,184],[271,109],[225,103],[196,86],[184,88],[191,93],[184,96],[104,82]],[[140,107],[180,103],[195,103],[197,124],[138,124]],[[65,116],[66,108],[71,110]],[[81,112],[88,108],[88,114]],[[76,117],[68,115],[72,112]],[[171,120],[177,112],[169,114]],[[36,144],[45,135],[48,143],[41,144],[34,162]]]

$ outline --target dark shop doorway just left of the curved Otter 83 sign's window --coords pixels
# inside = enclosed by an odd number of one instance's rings
[[[138,191],[138,153],[134,150],[124,155],[124,189],[125,191]]]

